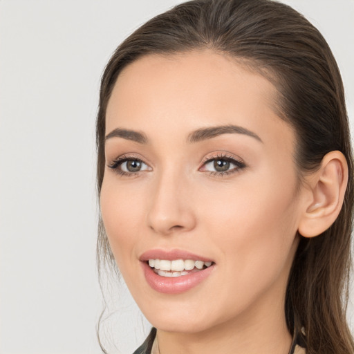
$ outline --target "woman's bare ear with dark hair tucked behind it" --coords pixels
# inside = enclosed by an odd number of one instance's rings
[[[313,237],[326,231],[342,209],[348,183],[348,165],[343,153],[327,153],[321,167],[306,182],[298,231],[304,237]]]

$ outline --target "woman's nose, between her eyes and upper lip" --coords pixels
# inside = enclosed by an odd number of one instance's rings
[[[193,230],[196,216],[190,183],[172,173],[154,182],[147,213],[149,228],[161,235]]]

